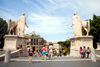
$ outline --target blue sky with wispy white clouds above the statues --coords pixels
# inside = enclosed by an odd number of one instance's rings
[[[21,13],[26,16],[28,28],[25,33],[35,31],[47,42],[65,41],[73,34],[73,13],[81,20],[100,16],[100,0],[0,0],[0,17],[17,20]]]

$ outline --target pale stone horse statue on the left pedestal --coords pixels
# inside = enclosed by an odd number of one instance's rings
[[[11,35],[11,30],[13,30],[13,35],[16,35],[17,23],[14,20],[8,19],[8,35]]]

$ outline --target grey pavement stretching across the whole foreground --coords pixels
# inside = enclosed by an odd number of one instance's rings
[[[28,64],[28,57],[12,58],[9,63],[0,61],[0,67],[100,67],[100,60],[92,62],[88,58],[78,57],[53,57],[53,60],[42,60],[34,57],[32,64]]]

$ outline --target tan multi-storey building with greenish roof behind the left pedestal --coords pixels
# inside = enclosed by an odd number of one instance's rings
[[[42,52],[42,47],[46,45],[46,40],[43,37],[36,35],[35,31],[30,34],[25,34],[25,37],[28,38],[27,47],[33,47],[33,51],[35,52]]]

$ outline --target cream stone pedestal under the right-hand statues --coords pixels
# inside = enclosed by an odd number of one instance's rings
[[[90,47],[93,49],[93,36],[81,36],[81,37],[73,37],[70,38],[71,48],[70,48],[70,56],[80,57],[80,47],[83,46]]]

